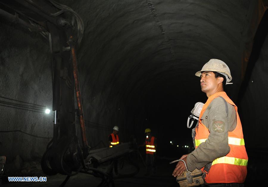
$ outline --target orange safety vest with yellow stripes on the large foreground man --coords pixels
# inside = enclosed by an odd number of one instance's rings
[[[235,107],[237,124],[232,132],[228,132],[230,152],[224,157],[217,158],[212,162],[211,168],[208,174],[206,174],[205,181],[206,183],[243,183],[247,176],[248,161],[243,131],[237,112],[237,106],[225,92],[217,92],[216,94],[213,94],[203,106],[199,117],[198,127],[195,129],[195,148],[208,139],[209,130],[202,124],[201,117],[211,101],[218,96],[222,96],[228,103]],[[203,169],[204,167],[202,168],[202,171]]]

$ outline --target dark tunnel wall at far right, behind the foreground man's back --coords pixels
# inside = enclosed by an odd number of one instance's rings
[[[266,36],[248,86],[240,102],[239,113],[244,131],[246,147],[268,149],[268,37]],[[247,76],[247,74],[246,74]]]

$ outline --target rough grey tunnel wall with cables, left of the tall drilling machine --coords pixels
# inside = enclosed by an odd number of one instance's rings
[[[0,133],[0,155],[6,155],[7,162],[15,155],[39,158],[53,127],[53,114],[44,113],[46,106],[52,108],[49,45],[39,34],[0,24],[0,131],[5,131]]]

